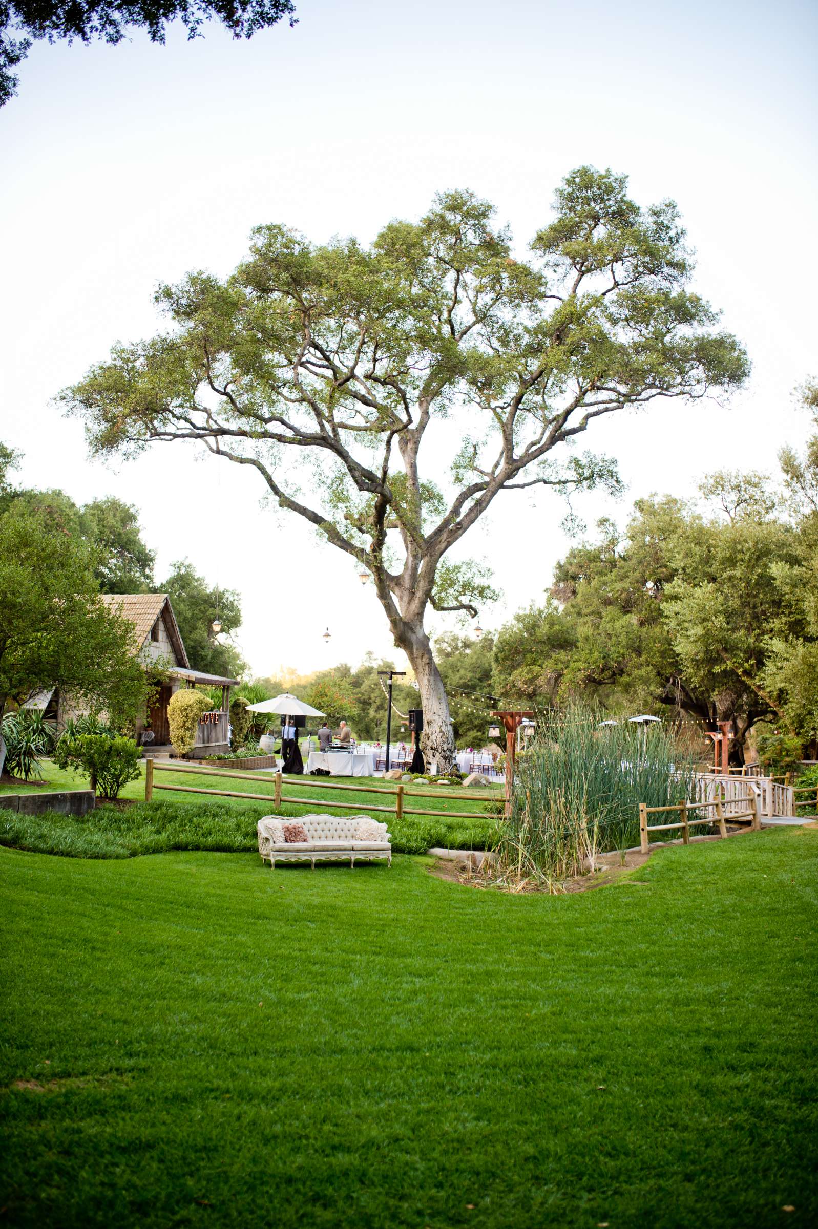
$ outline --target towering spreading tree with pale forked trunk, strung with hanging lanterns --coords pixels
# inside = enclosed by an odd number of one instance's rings
[[[93,451],[199,441],[367,569],[444,769],[454,739],[424,616],[471,613],[486,584],[447,553],[501,492],[615,485],[610,458],[572,451],[597,419],[727,392],[748,371],[689,289],[672,202],[643,209],[625,176],[581,167],[526,259],[492,214],[448,192],[370,247],[261,226],[225,281],[160,288],[169,333],[116,347],[63,393]],[[447,420],[463,446],[442,473]]]

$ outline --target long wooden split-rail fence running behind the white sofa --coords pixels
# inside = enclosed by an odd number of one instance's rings
[[[325,782],[321,778],[319,784],[317,780],[310,779],[304,780],[299,777],[287,777],[284,783],[282,774],[277,772],[273,775],[273,794],[250,794],[245,790],[231,790],[231,789],[204,789],[201,785],[165,785],[155,780],[155,774],[157,772],[172,772],[172,773],[193,773],[197,777],[229,777],[235,780],[251,780],[258,784],[258,773],[248,772],[231,772],[225,768],[202,768],[202,767],[188,767],[178,763],[161,763],[157,760],[149,758],[145,761],[145,801],[149,803],[154,796],[155,789],[167,789],[173,790],[180,794],[207,794],[214,798],[244,798],[250,801],[262,801],[272,803],[273,807],[278,810],[282,803],[296,803],[299,806],[316,806],[324,810],[343,810],[343,811],[383,811],[386,815],[394,815],[396,820],[401,820],[405,815],[431,815],[431,816],[444,816],[445,819],[461,819],[461,820],[485,820],[490,812],[487,811],[431,811],[431,810],[412,810],[406,806],[406,800],[415,798],[435,798],[440,799],[454,798],[461,801],[476,801],[474,794],[465,794],[463,791],[455,793],[449,787],[438,787],[435,793],[429,790],[406,790],[402,784],[397,784],[395,790],[395,803],[391,806],[375,806],[369,803],[344,803],[343,799],[327,800],[326,798],[296,798],[293,794],[282,793],[282,787],[285,784],[288,789],[331,789],[331,790],[351,790],[355,794],[378,794],[380,798],[391,798],[392,791],[390,789],[378,788],[375,785],[341,785],[332,782]],[[365,779],[365,778],[364,778]],[[445,795],[444,791],[445,790]],[[486,799],[490,801],[490,799]],[[502,801],[501,794],[492,794],[491,801]]]

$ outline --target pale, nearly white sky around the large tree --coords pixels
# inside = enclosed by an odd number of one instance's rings
[[[399,658],[354,563],[262,508],[261,481],[182,445],[91,463],[50,398],[114,340],[156,329],[157,281],[226,275],[253,225],[368,241],[469,187],[523,249],[582,163],[627,173],[641,204],[678,202],[696,289],[753,375],[729,408],[603,420],[582,446],[614,454],[629,490],[577,510],[621,521],[640,495],[691,494],[716,468],[774,471],[779,447],[802,442],[791,393],[818,372],[812,5],[303,0],[298,16],[251,42],[213,25],[166,47],[38,44],[23,63],[0,109],[0,439],[25,452],[22,482],[135,504],[159,578],[188,557],[240,591],[255,673]],[[503,591],[482,627],[541,600],[570,546],[562,515],[557,499],[508,493],[471,531],[464,551]]]

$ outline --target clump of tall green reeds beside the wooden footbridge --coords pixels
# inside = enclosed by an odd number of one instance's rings
[[[512,815],[501,822],[501,874],[557,890],[597,854],[638,844],[638,804],[693,798],[694,758],[663,723],[602,725],[584,705],[549,713],[518,761]]]

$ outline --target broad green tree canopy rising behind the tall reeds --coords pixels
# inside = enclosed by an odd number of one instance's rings
[[[793,600],[809,591],[804,535],[760,474],[713,474],[702,494],[704,514],[664,497],[637,501],[624,535],[600,522],[557,564],[545,606],[501,630],[496,680],[546,704],[586,696],[709,729],[731,720],[738,758],[756,720],[795,720],[770,671],[782,645],[814,638]]]

